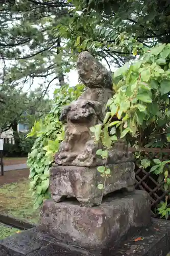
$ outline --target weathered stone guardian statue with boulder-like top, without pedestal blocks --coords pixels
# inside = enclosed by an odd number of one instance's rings
[[[86,90],[62,110],[60,120],[66,122],[65,139],[60,144],[55,163],[97,166],[99,161],[95,153],[102,145],[94,142],[90,127],[103,123],[106,103],[113,96],[112,79],[106,68],[88,52],[79,55],[77,65]]]

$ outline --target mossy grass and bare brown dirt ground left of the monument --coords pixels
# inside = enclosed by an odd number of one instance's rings
[[[23,158],[6,159],[6,164],[25,163]],[[15,162],[14,162],[15,161]],[[20,162],[18,162],[20,161]],[[33,208],[34,198],[29,190],[29,169],[10,170],[0,176],[0,214],[5,214],[30,223],[39,221],[39,209]],[[0,222],[0,240],[20,230]]]

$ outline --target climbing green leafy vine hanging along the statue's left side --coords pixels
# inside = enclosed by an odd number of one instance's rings
[[[36,137],[32,151],[28,156],[30,167],[30,187],[35,195],[35,207],[42,204],[43,199],[50,197],[48,193],[49,170],[54,162],[54,155],[64,139],[64,127],[59,117],[64,105],[76,100],[82,93],[84,86],[63,86],[56,89],[55,100],[51,112],[44,118],[36,121],[31,133],[27,137]]]

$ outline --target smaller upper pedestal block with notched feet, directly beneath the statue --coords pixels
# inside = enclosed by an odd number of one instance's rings
[[[60,202],[67,196],[75,197],[83,206],[100,205],[102,197],[113,191],[126,188],[134,190],[134,163],[124,162],[108,165],[111,176],[105,180],[97,167],[53,166],[50,175],[50,190],[54,201]],[[105,189],[98,189],[104,184]]]

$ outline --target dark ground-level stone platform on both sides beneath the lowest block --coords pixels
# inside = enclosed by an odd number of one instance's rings
[[[152,222],[152,225],[148,227],[131,230],[128,236],[119,244],[118,248],[115,248],[111,242],[110,248],[99,252],[97,255],[168,256],[167,253],[170,250],[170,223],[169,221],[157,219],[153,219]],[[138,237],[143,238],[143,240],[135,242],[134,240]],[[40,233],[37,228],[34,228],[0,240],[0,255],[94,256],[96,253],[90,253],[80,247],[62,243],[44,233]]]

